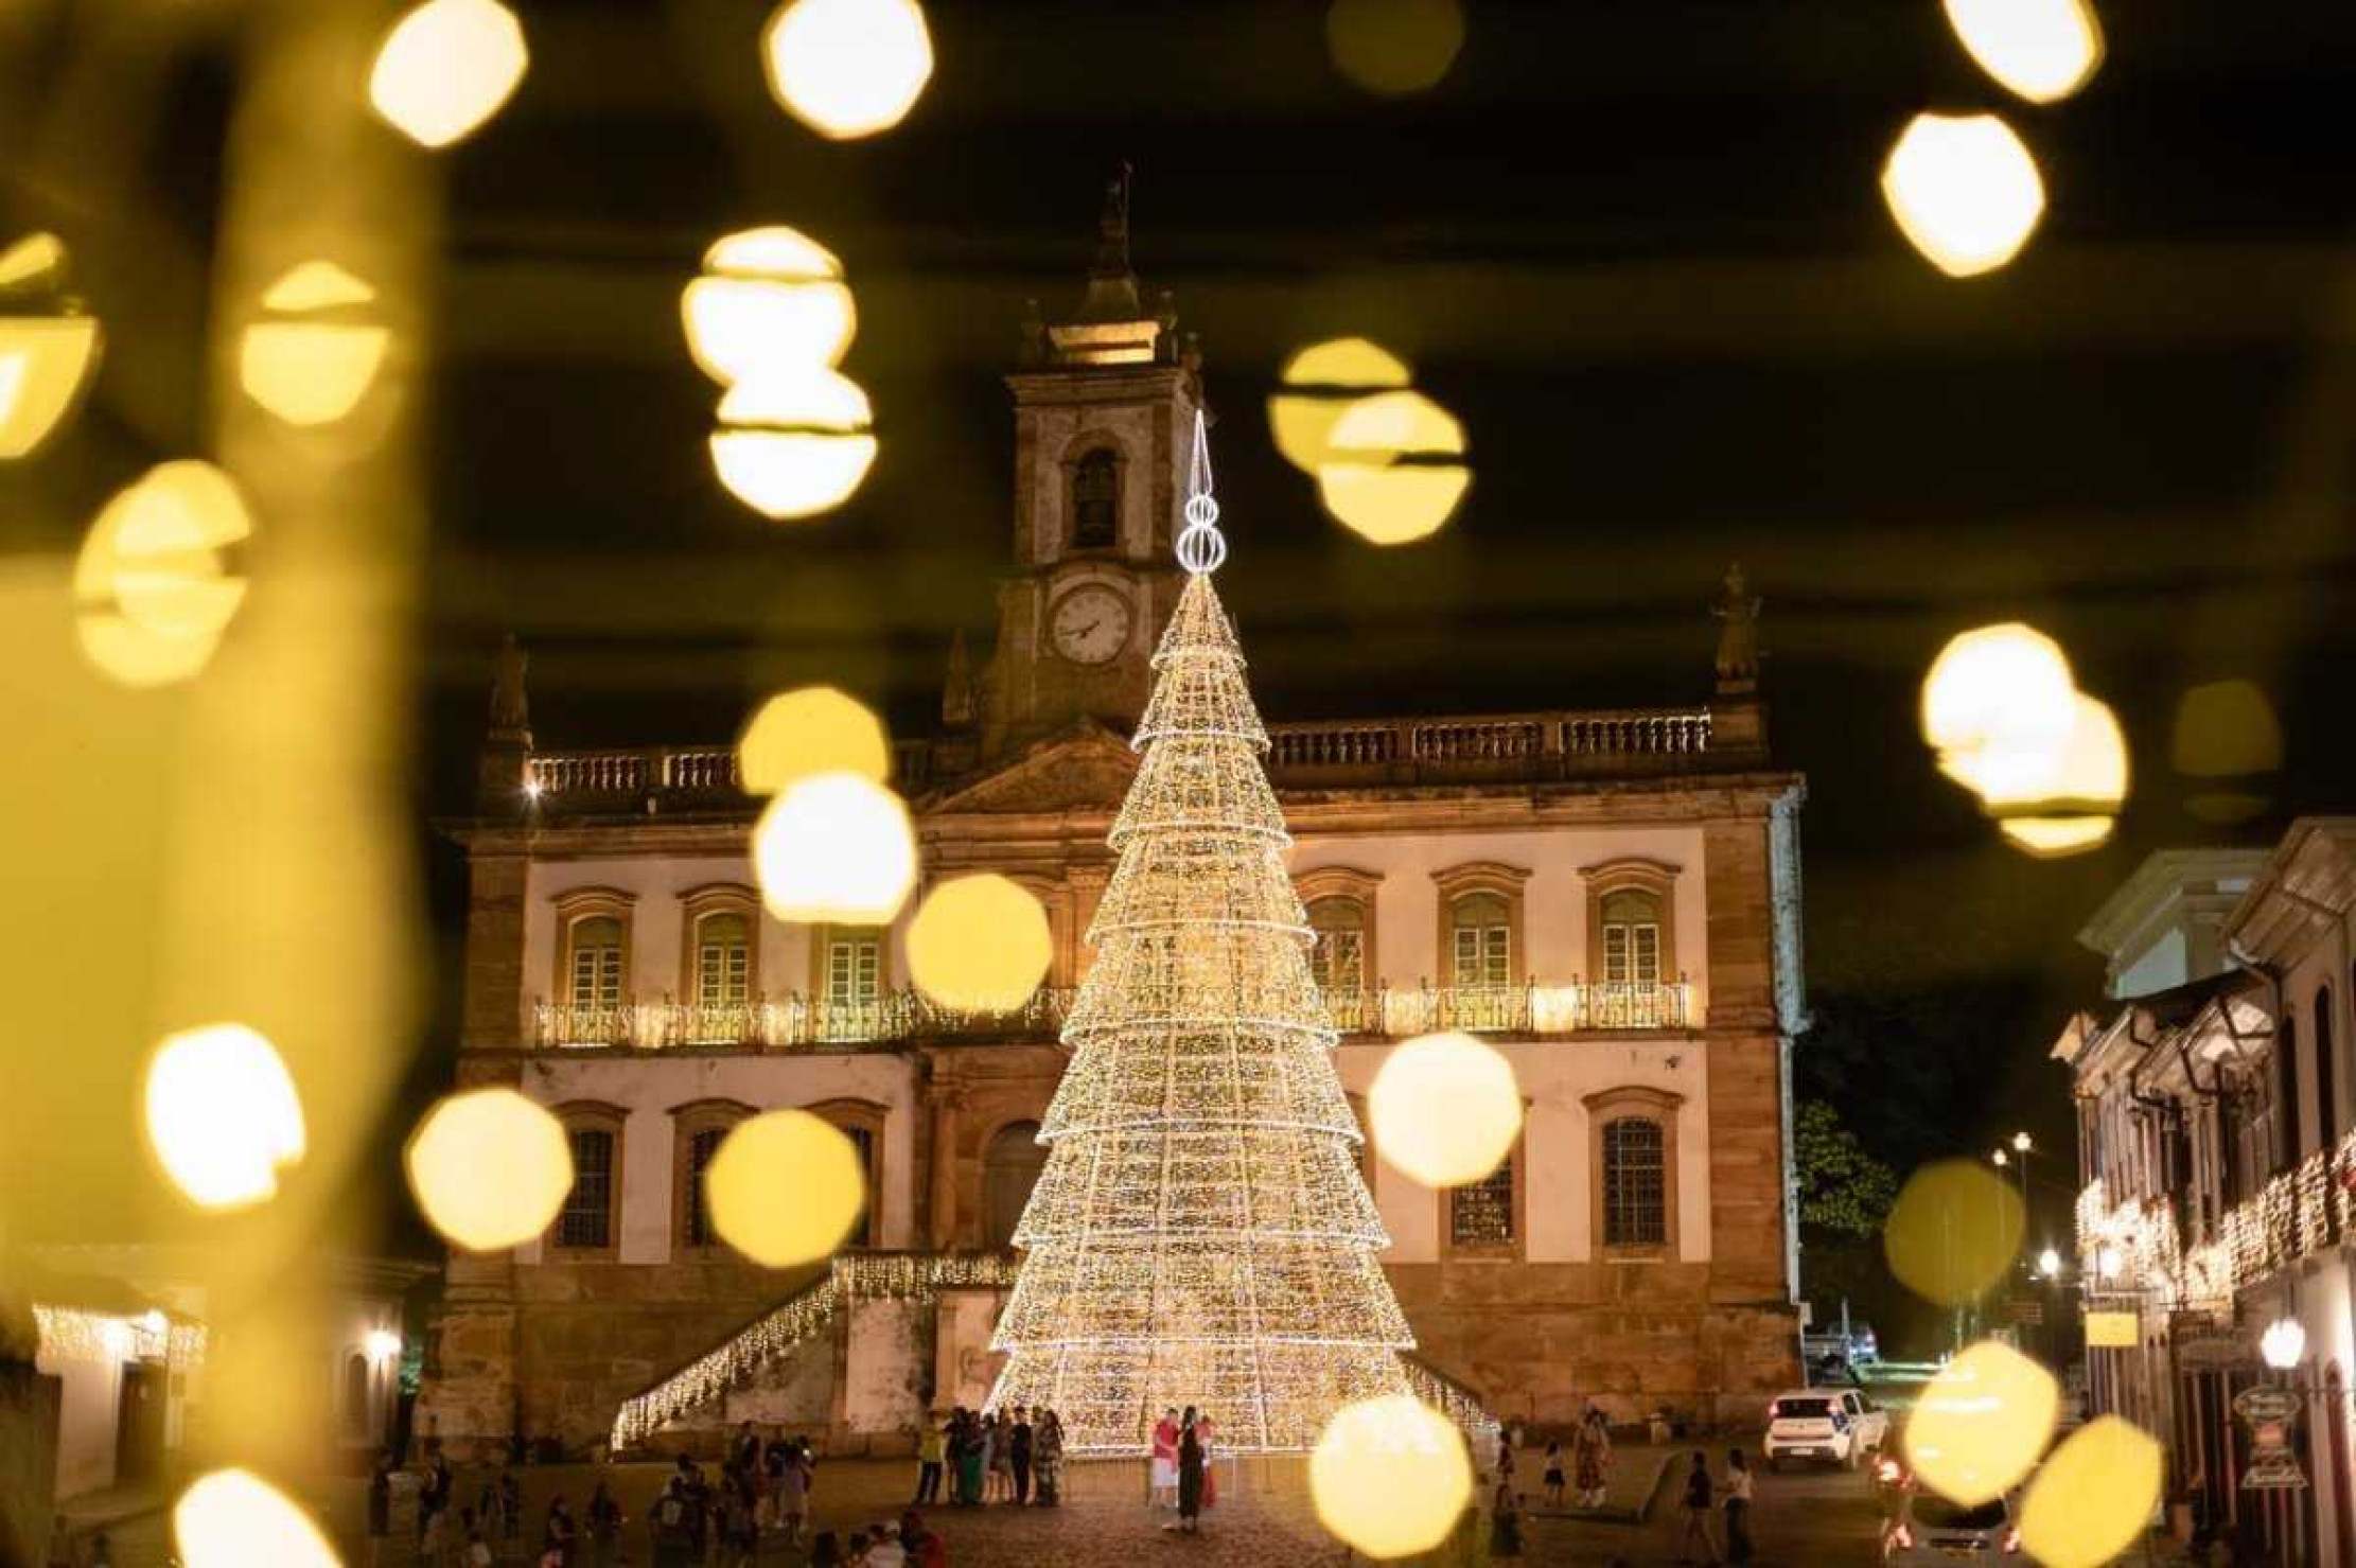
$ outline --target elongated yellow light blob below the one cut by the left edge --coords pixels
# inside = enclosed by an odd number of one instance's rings
[[[205,461],[158,464],[115,492],[73,563],[75,636],[90,662],[132,687],[200,671],[245,603],[221,551],[250,532],[238,487]]]

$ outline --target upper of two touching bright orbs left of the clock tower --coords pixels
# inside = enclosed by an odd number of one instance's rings
[[[763,365],[841,365],[858,332],[843,264],[785,226],[747,228],[704,252],[704,273],[679,294],[695,365],[735,386]]]

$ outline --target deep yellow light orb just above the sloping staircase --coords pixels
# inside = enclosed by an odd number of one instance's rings
[[[867,1208],[858,1147],[808,1111],[740,1121],[704,1168],[712,1229],[763,1269],[818,1262]]]

